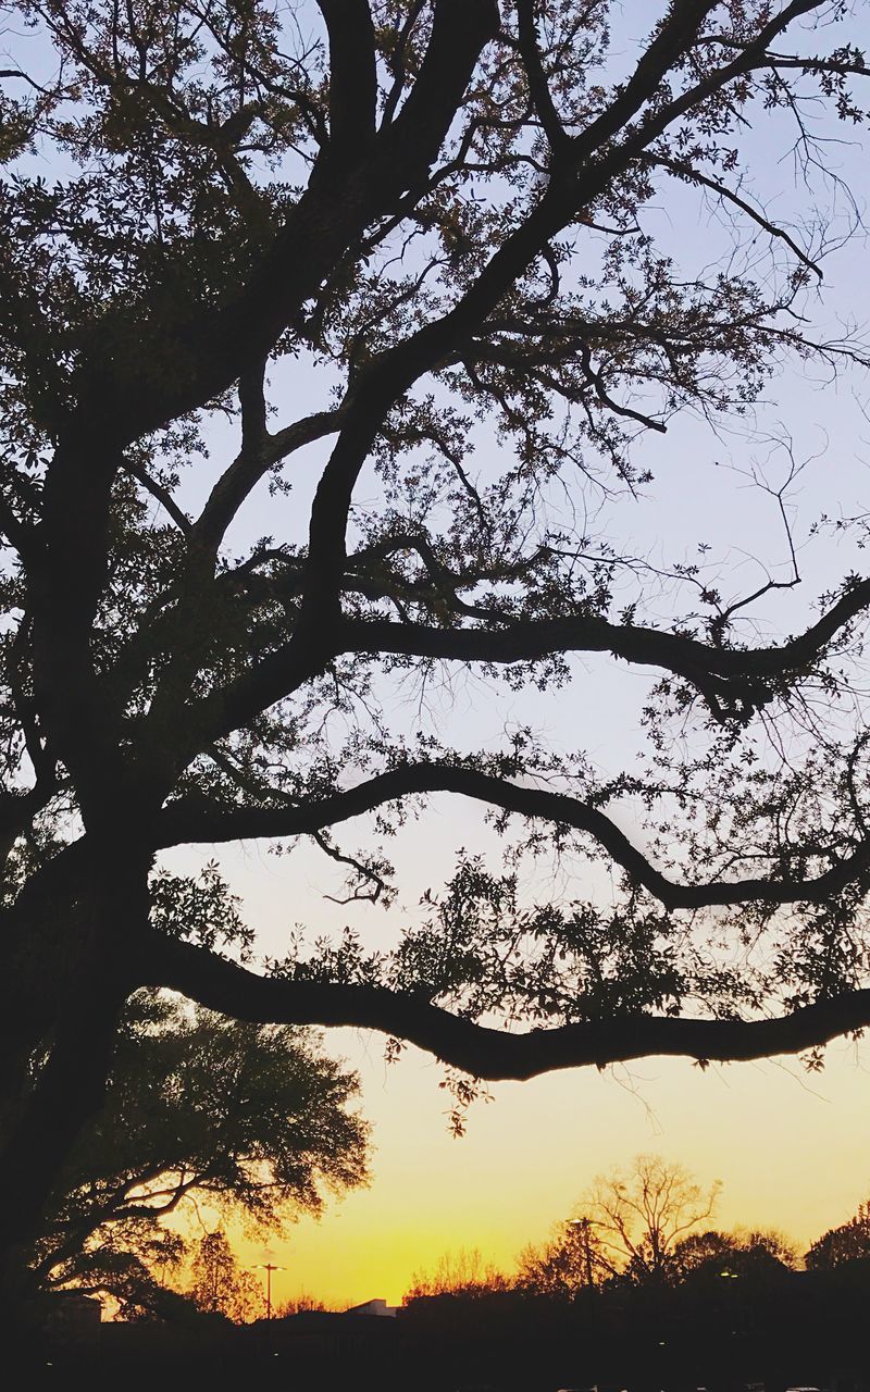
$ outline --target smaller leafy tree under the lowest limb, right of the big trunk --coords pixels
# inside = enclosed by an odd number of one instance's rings
[[[206,1201],[263,1231],[366,1179],[355,1075],[292,1026],[238,1025],[139,992],[120,1023],[107,1102],[77,1144],[32,1272],[163,1308],[187,1258],[161,1219]]]

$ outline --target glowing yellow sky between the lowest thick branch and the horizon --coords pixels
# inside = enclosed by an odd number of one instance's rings
[[[802,1247],[844,1222],[870,1193],[870,1051],[838,1043],[824,1073],[795,1059],[711,1066],[653,1059],[631,1069],[574,1069],[503,1083],[454,1140],[437,1063],[409,1050],[386,1068],[379,1036],[327,1036],[363,1073],[373,1123],[373,1182],[301,1218],[269,1244],[285,1267],[273,1299],[301,1293],[344,1307],[401,1302],[413,1272],[444,1253],[477,1249],[511,1270],[529,1242],[569,1215],[597,1173],[639,1153],[678,1161],[699,1182],[722,1180],[715,1224],[785,1231]],[[241,1233],[245,1264],[264,1260]]]

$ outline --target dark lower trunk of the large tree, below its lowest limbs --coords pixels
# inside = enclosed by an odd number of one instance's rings
[[[19,896],[3,935],[0,1289],[17,1285],[70,1153],[103,1104],[117,1019],[138,984],[148,863],[117,845],[61,859],[39,892],[33,883]]]

